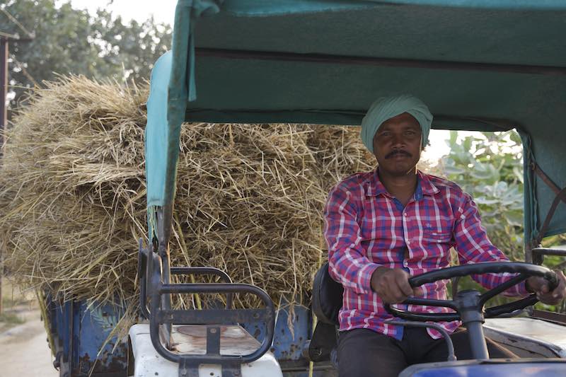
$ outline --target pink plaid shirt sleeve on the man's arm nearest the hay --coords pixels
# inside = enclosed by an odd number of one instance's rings
[[[357,294],[371,293],[371,274],[380,267],[370,262],[362,248],[352,192],[338,184],[330,191],[324,211],[324,236],[328,245],[330,276]]]

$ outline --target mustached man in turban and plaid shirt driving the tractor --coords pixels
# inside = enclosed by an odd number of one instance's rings
[[[411,276],[449,266],[450,248],[463,263],[507,261],[490,243],[470,195],[454,182],[417,170],[432,114],[410,95],[380,98],[362,121],[362,141],[378,168],[354,174],[330,192],[325,207],[325,238],[330,275],[344,286],[340,311],[340,377],[397,376],[410,364],[444,361],[446,344],[436,330],[389,325],[383,303],[408,296],[446,298],[446,282],[412,289]],[[510,274],[483,274],[475,279],[490,289]],[[536,291],[541,301],[558,303],[566,295],[566,278],[548,291],[541,278],[530,278],[506,294]],[[448,311],[410,306],[410,311]],[[459,323],[440,323],[458,359],[471,359],[466,331]],[[488,340],[492,358],[514,357]]]

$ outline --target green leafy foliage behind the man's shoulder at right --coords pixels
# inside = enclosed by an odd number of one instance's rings
[[[450,152],[436,169],[473,196],[492,243],[510,260],[524,261],[523,156],[519,134],[475,132],[473,136],[458,138],[458,133],[451,131],[446,143]],[[564,240],[564,236],[548,237],[543,246],[560,245]],[[545,265],[564,267],[560,257],[545,257]],[[468,278],[458,284],[458,289],[472,288],[483,290]],[[505,301],[509,299],[498,297],[490,306]],[[538,303],[536,307],[566,313],[566,303],[558,307]]]

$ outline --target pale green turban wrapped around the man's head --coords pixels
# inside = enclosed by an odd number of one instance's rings
[[[371,104],[362,120],[360,136],[371,153],[374,153],[374,135],[381,124],[392,117],[403,114],[403,112],[408,112],[419,122],[422,131],[422,147],[424,148],[429,143],[432,114],[422,100],[406,94],[396,97],[382,97]]]

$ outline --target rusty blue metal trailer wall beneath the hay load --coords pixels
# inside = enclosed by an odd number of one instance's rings
[[[123,313],[124,308],[115,303],[58,303],[48,296],[47,315],[55,348],[54,365],[60,376],[129,376],[127,340],[112,337],[107,342]],[[308,360],[303,352],[312,333],[311,311],[304,306],[294,306],[291,323],[289,325],[288,309],[277,313],[272,352],[289,376],[306,377]],[[258,323],[243,324],[243,327],[260,342],[265,337],[265,327]],[[316,371],[314,376],[325,376],[325,373]]]

